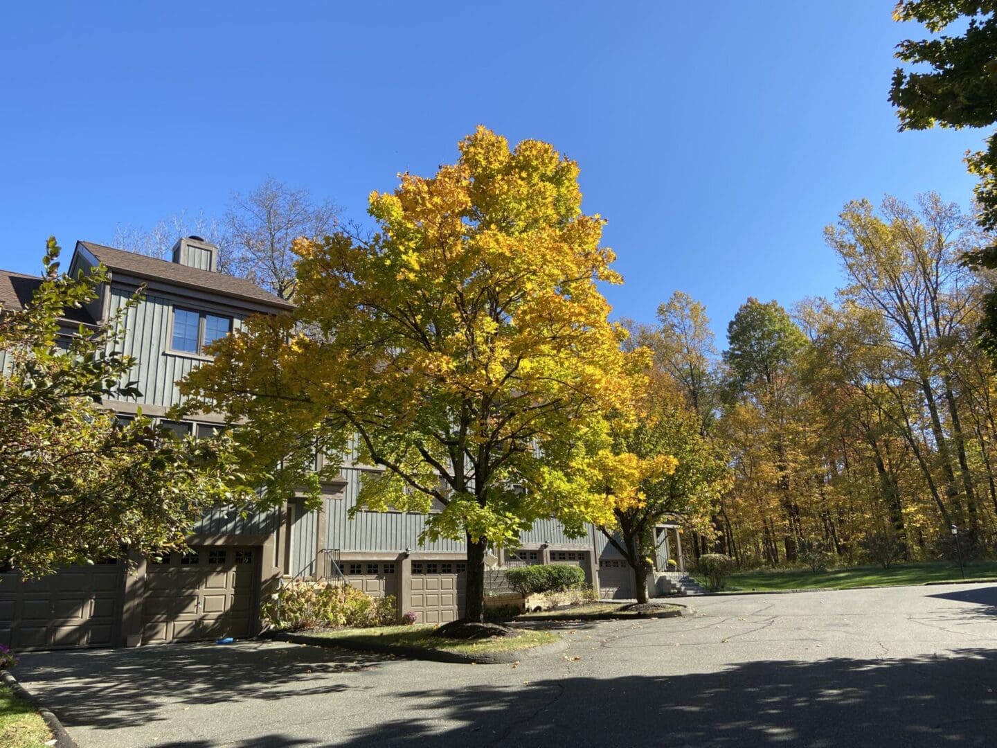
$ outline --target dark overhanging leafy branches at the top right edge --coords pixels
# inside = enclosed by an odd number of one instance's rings
[[[897,21],[917,21],[933,34],[964,24],[961,34],[908,39],[896,56],[910,70],[893,73],[889,99],[896,107],[900,130],[986,128],[997,123],[997,3],[992,0],[902,0],[893,11]],[[923,67],[921,67],[923,66]],[[966,159],[975,188],[978,223],[991,237],[969,253],[977,267],[997,268],[997,133],[987,148]],[[997,357],[997,288],[991,286],[981,321],[982,345]]]

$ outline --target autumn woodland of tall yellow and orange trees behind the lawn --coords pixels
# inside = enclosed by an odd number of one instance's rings
[[[825,231],[833,298],[749,298],[718,350],[676,292],[632,340],[681,390],[729,476],[686,518],[692,553],[739,565],[916,561],[997,545],[997,392],[976,329],[992,241],[937,194],[848,203]]]

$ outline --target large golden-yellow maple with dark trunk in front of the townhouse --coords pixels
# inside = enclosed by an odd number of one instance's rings
[[[480,621],[490,545],[554,514],[582,532],[593,508],[553,489],[631,380],[597,287],[619,276],[603,219],[581,211],[577,165],[484,127],[460,151],[373,192],[369,239],[297,242],[295,310],[249,320],[182,390],[240,424],[243,465],[272,501],[302,485],[317,498],[352,443],[383,469],[366,508],[437,502],[425,537],[467,542],[466,618]],[[317,474],[315,452],[332,456]]]

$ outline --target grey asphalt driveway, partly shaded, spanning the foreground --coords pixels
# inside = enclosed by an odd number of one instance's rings
[[[997,585],[701,597],[512,665],[279,643],[27,654],[81,748],[997,744]]]

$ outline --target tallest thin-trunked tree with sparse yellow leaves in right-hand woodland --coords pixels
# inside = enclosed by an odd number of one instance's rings
[[[957,397],[960,375],[951,357],[979,300],[960,262],[972,246],[970,226],[956,205],[936,194],[921,196],[916,210],[887,196],[878,213],[866,200],[848,203],[826,236],[847,278],[839,295],[871,315],[878,330],[871,341],[878,349],[877,379],[900,408],[901,433],[915,454],[936,453],[921,462],[929,486],[937,480],[944,495],[940,518],[947,527],[951,513],[975,536],[982,518]]]

